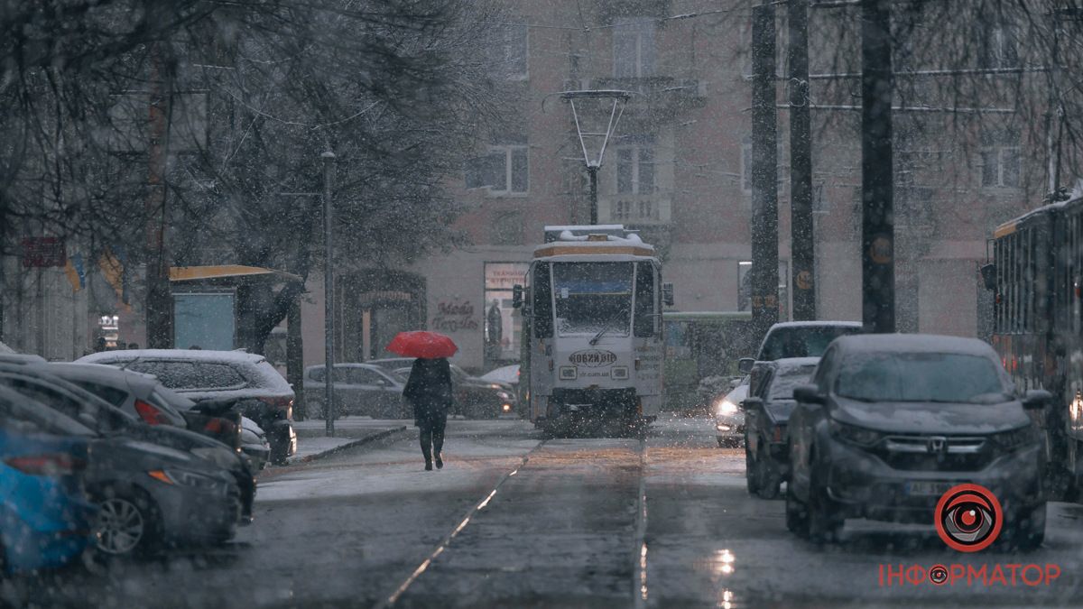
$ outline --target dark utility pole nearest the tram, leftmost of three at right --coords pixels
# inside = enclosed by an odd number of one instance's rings
[[[774,4],[752,13],[752,316],[757,336],[779,321],[779,145]]]

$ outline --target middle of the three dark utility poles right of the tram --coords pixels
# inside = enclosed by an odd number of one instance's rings
[[[815,320],[812,128],[809,116],[809,0],[790,0],[790,251],[794,321]]]

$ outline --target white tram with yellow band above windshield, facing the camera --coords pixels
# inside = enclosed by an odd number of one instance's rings
[[[520,394],[550,435],[617,426],[641,431],[662,406],[665,351],[654,247],[621,224],[546,226],[526,285]]]

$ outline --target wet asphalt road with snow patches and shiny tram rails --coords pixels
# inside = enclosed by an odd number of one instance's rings
[[[219,548],[6,583],[31,605],[95,607],[793,607],[1083,605],[1083,506],[1051,504],[1031,554],[954,553],[930,530],[848,522],[790,534],[749,497],[743,450],[706,418],[644,441],[543,439],[522,422],[448,425],[426,472],[416,431],[260,480],[256,522]],[[880,565],[1056,563],[1049,585],[880,585]],[[1005,571],[1007,572],[1007,571]]]

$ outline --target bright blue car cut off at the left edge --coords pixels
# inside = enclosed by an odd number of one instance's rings
[[[81,471],[94,433],[0,387],[0,572],[66,565],[92,543]]]

